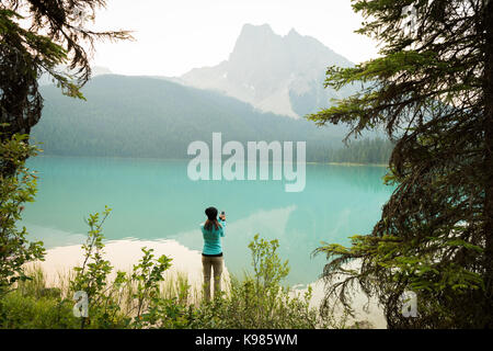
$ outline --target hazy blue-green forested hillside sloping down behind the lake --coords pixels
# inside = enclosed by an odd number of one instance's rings
[[[45,107],[33,137],[43,143],[45,155],[188,158],[191,141],[210,144],[213,132],[221,132],[223,143],[306,140],[308,161],[382,161],[360,148],[367,159],[360,155],[344,159],[354,146],[335,152],[343,146],[343,127],[322,129],[162,79],[105,75],[82,91],[87,101],[43,87]],[[330,159],[331,155],[337,159]]]

